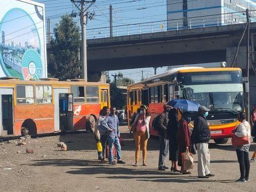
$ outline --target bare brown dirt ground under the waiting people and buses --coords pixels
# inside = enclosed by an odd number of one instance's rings
[[[132,166],[134,141],[125,126],[122,132],[122,159],[126,165],[116,166],[97,161],[93,134],[35,138],[26,140],[25,146],[17,146],[18,140],[1,142],[0,191],[256,191],[256,163],[251,163],[251,181],[234,182],[239,177],[239,166],[230,142],[210,143],[211,172],[215,177],[198,179],[196,162],[191,175],[159,172],[157,138],[148,141],[148,166]],[[59,141],[67,144],[67,151],[57,147]],[[35,153],[26,154],[27,148]],[[250,156],[253,149],[252,145]]]

